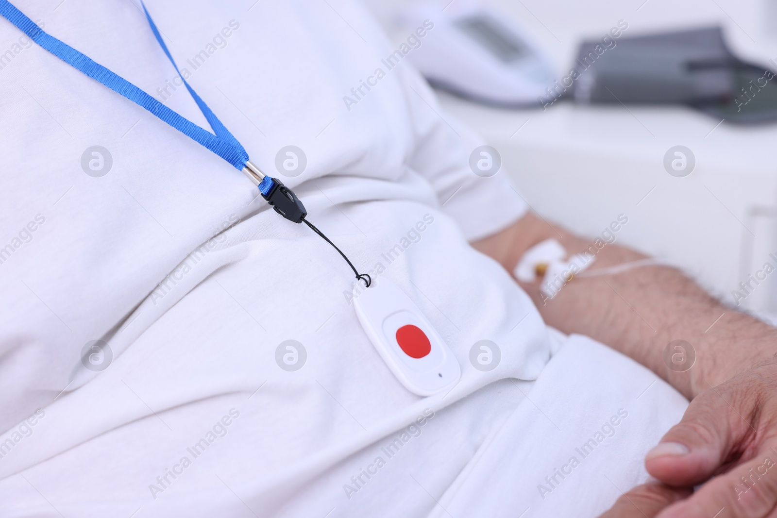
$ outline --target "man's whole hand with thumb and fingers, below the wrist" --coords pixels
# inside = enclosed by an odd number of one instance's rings
[[[680,493],[667,486],[639,486],[603,516],[777,517],[777,361],[694,398],[645,464],[668,485],[704,485],[679,502]]]

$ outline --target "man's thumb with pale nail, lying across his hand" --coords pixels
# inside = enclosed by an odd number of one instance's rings
[[[645,457],[650,475],[669,485],[692,486],[715,475],[750,425],[714,391],[695,398],[681,422]]]

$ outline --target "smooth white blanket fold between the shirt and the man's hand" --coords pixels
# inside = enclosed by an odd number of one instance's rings
[[[644,455],[688,406],[650,370],[581,335],[563,339],[521,390],[430,518],[598,516],[648,479]]]

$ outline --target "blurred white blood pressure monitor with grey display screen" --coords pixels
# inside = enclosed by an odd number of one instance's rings
[[[410,33],[434,23],[408,55],[432,85],[497,106],[535,106],[547,96],[555,79],[549,58],[520,26],[480,2],[446,3],[421,2],[399,14]]]

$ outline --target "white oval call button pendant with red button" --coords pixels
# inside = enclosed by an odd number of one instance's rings
[[[376,279],[354,306],[372,345],[407,390],[428,396],[456,384],[462,370],[451,349],[394,283]]]

